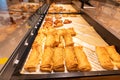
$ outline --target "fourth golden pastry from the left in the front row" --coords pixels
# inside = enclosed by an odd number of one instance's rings
[[[65,64],[68,71],[76,71],[78,63],[73,47],[65,47]]]

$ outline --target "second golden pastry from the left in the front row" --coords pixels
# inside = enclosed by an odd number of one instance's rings
[[[53,48],[47,47],[44,50],[44,54],[42,55],[42,61],[40,64],[40,70],[43,72],[51,72],[53,67]]]

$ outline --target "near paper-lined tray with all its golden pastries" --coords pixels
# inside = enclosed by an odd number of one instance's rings
[[[20,73],[69,74],[119,69],[120,55],[115,45],[105,42],[81,15],[48,14]]]

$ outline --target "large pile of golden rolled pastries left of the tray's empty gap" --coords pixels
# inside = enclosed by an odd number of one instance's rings
[[[75,35],[73,28],[41,28],[24,69],[28,72],[35,72],[38,67],[41,72],[90,71],[83,47],[74,46],[72,37]]]

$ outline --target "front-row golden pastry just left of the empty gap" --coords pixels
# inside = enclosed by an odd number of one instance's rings
[[[90,71],[91,65],[87,59],[87,56],[83,52],[83,48],[81,46],[74,47],[75,55],[78,61],[78,70],[79,71]]]

